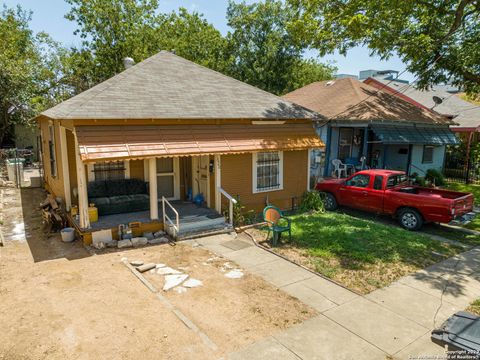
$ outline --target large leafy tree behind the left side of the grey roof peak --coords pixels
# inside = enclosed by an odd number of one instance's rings
[[[175,50],[189,60],[221,70],[225,39],[201,14],[157,14],[157,0],[66,0],[66,18],[76,21],[82,48],[64,59],[67,73],[81,92],[124,70],[123,58],[140,62],[160,50]]]

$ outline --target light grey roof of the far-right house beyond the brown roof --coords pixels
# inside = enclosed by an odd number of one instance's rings
[[[440,114],[455,116],[453,121],[458,123],[458,127],[480,126],[480,107],[478,107],[478,105],[476,107],[475,104],[462,100],[456,93],[452,93],[451,88],[448,86],[437,85],[433,86],[431,90],[418,90],[412,85],[397,81],[375,80],[388,84],[387,86],[393,90],[400,91],[402,94],[419,102],[423,106],[429,109],[433,108]],[[443,102],[440,105],[435,105],[433,96],[440,97]]]

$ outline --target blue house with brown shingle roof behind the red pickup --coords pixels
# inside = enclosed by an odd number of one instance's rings
[[[450,119],[352,78],[315,82],[283,98],[327,119],[317,121],[327,147],[312,157],[312,177],[330,176],[334,159],[423,176],[441,170],[445,146],[457,142]]]

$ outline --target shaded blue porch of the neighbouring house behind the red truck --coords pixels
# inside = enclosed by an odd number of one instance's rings
[[[334,171],[332,160],[347,166],[348,173],[366,168],[420,173],[441,170],[445,146],[457,139],[448,127],[408,124],[334,124],[327,130],[327,150],[322,175]]]

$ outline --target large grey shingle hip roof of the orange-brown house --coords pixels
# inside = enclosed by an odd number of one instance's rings
[[[311,119],[273,94],[160,53],[42,115],[53,119]]]

